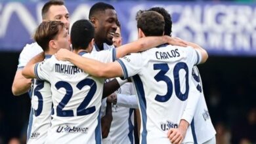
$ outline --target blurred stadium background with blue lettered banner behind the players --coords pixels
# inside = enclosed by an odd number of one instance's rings
[[[65,1],[71,22],[88,18],[96,1]],[[137,39],[135,14],[164,7],[173,18],[173,36],[198,43],[209,59],[200,65],[203,90],[217,143],[256,143],[256,1],[109,0],[121,22],[124,43]],[[0,0],[0,144],[26,143],[28,94],[13,96],[18,56],[41,22],[42,0]]]

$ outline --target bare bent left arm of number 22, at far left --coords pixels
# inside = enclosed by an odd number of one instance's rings
[[[35,63],[43,61],[44,58],[45,58],[45,54],[43,52],[33,57],[32,60],[30,60],[30,62],[28,62],[27,65],[22,70],[22,75],[27,79],[36,78]]]

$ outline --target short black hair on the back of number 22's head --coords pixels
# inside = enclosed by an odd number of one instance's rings
[[[72,48],[74,50],[85,50],[91,40],[94,38],[95,28],[89,20],[77,20],[70,33]]]

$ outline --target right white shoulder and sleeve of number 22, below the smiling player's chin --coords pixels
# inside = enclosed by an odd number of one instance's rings
[[[88,58],[98,60],[100,62],[108,63],[116,61],[116,48],[110,48],[109,50],[101,50],[100,52],[92,52],[92,54],[86,55]]]

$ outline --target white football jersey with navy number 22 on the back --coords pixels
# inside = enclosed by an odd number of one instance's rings
[[[115,49],[84,57],[113,62]],[[49,81],[53,93],[53,119],[46,143],[101,143],[100,105],[104,79],[92,77],[70,62],[54,56],[35,65],[37,79]]]

